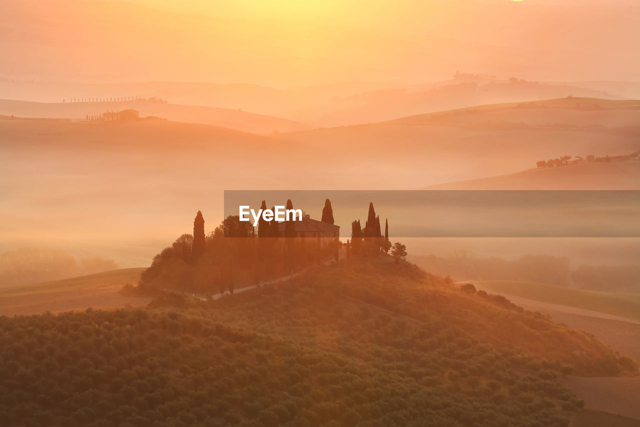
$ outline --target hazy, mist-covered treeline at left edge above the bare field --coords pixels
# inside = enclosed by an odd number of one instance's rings
[[[114,260],[100,256],[77,260],[59,249],[23,247],[0,254],[0,287],[66,279],[117,268]]]

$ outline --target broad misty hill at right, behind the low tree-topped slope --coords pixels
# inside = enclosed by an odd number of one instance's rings
[[[563,155],[632,153],[640,136],[639,105],[640,101],[552,99],[303,131],[281,138],[358,158],[349,172],[367,164],[376,169],[385,165],[385,176],[370,176],[367,181],[374,188],[416,188],[520,172],[537,160]]]

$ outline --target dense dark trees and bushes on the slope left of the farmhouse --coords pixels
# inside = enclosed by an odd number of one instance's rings
[[[292,208],[291,200],[286,206]],[[333,213],[327,211],[329,217]],[[180,236],[154,257],[142,273],[140,289],[232,292],[337,258],[340,245],[337,239],[296,237],[293,221],[285,221],[282,236],[276,221],[261,219],[253,228],[238,215],[229,215],[208,235],[204,228],[204,217],[198,211],[194,234]]]

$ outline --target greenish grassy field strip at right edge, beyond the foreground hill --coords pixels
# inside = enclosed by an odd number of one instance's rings
[[[480,289],[640,321],[640,295],[637,294],[595,292],[529,281],[483,280],[475,283]]]

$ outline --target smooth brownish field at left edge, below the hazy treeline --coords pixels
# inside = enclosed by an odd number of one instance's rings
[[[127,283],[140,280],[144,269],[122,269],[65,280],[0,289],[0,315],[82,311],[87,308],[122,308],[146,305],[149,298],[118,293]]]

